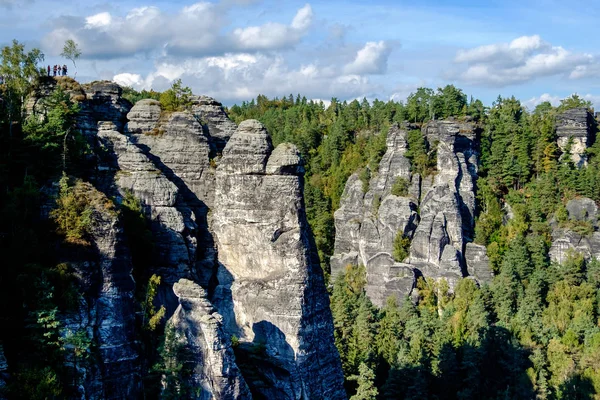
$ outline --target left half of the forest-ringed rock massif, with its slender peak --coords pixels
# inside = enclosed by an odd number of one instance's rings
[[[406,129],[391,127],[386,144],[387,151],[369,182],[369,190],[363,192],[363,182],[357,174],[346,184],[341,207],[334,214],[336,241],[331,258],[333,276],[348,264],[365,265],[367,294],[378,305],[385,304],[390,294],[401,297],[412,289],[414,274],[395,263],[392,254],[398,233],[412,237],[418,222],[415,196],[391,193],[398,179],[413,179],[410,161],[404,156]]]

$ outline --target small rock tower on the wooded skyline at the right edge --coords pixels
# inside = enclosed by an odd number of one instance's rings
[[[571,159],[578,167],[586,164],[585,150],[594,141],[594,117],[587,108],[573,108],[556,117],[558,147],[565,152],[571,143]]]

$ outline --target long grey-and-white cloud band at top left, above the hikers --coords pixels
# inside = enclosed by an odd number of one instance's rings
[[[6,0],[0,0],[6,1]],[[131,9],[125,16],[109,12],[58,18],[43,40],[44,50],[58,54],[66,39],[80,44],[85,57],[110,59],[135,54],[203,56],[226,52],[276,50],[298,43],[313,18],[309,4],[289,25],[268,22],[227,30],[226,4],[198,2],[169,13],[155,6]]]

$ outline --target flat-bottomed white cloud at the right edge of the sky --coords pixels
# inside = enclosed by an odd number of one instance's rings
[[[590,71],[600,72],[600,61],[591,54],[553,46],[538,35],[459,50],[454,61],[459,67],[448,73],[449,78],[489,86],[507,86],[556,75],[581,78]]]

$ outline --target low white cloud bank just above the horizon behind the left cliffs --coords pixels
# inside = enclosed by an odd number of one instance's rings
[[[332,95],[354,98],[374,88],[367,77],[344,74],[335,67],[320,67],[316,63],[290,67],[281,55],[261,53],[229,53],[177,64],[162,61],[146,77],[121,73],[113,80],[136,89],[164,90],[179,78],[195,93],[207,94],[225,103],[247,100],[258,94],[281,97],[298,92],[309,98],[326,99]]]

